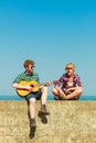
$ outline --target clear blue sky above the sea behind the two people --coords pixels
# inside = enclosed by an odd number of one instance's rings
[[[58,79],[75,63],[84,95],[96,96],[96,1],[0,1],[0,95],[15,95],[11,84],[26,58],[41,82]]]

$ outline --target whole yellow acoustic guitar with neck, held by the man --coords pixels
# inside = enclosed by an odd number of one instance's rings
[[[53,84],[55,84],[55,81],[50,81],[50,84],[49,82],[39,84],[35,80],[31,80],[31,81],[21,80],[19,82],[19,85],[21,85],[21,86],[31,86],[32,87],[32,91],[29,91],[29,90],[25,90],[25,89],[17,89],[17,92],[18,92],[19,96],[25,97],[25,96],[28,96],[31,92],[39,91],[41,86],[51,86]]]

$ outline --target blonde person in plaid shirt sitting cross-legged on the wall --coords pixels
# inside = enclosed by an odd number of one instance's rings
[[[66,73],[61,76],[52,92],[55,99],[75,100],[83,92],[82,81],[75,72],[75,65],[68,63],[65,67]]]

